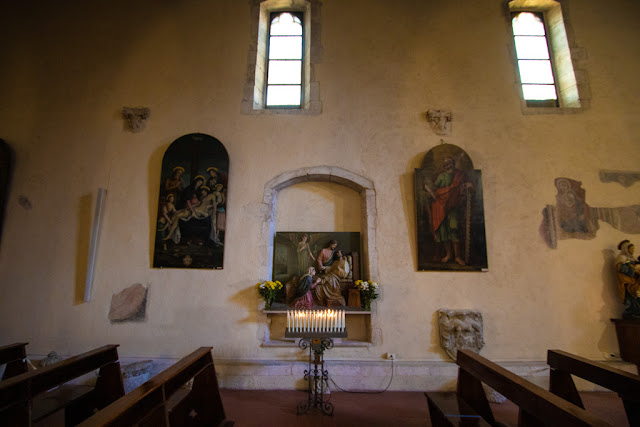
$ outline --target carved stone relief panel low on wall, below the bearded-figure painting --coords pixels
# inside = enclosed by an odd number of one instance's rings
[[[475,310],[438,310],[440,346],[456,360],[458,350],[479,353],[484,347],[482,314]]]

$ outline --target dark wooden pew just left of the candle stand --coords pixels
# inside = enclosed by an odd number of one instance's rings
[[[193,387],[183,387],[193,378]],[[211,347],[200,347],[91,418],[88,426],[231,426],[226,419]]]

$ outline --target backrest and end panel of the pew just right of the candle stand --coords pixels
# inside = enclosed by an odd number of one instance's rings
[[[584,409],[538,387],[509,370],[469,351],[458,350],[458,397],[463,399],[489,423],[495,423],[482,383],[495,389],[520,408],[519,425],[610,424]]]

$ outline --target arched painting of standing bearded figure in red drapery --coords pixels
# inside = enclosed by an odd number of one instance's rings
[[[419,271],[487,269],[482,174],[460,147],[440,144],[415,170]]]

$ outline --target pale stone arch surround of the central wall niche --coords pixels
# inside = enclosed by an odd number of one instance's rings
[[[275,217],[278,193],[280,190],[302,182],[331,182],[351,188],[360,194],[360,214],[362,237],[362,276],[379,281],[378,254],[376,251],[376,193],[373,182],[361,175],[336,166],[314,166],[281,173],[267,181],[264,186],[264,203],[268,213],[265,215],[263,235],[267,238],[266,277],[272,276],[273,243],[276,233]]]

